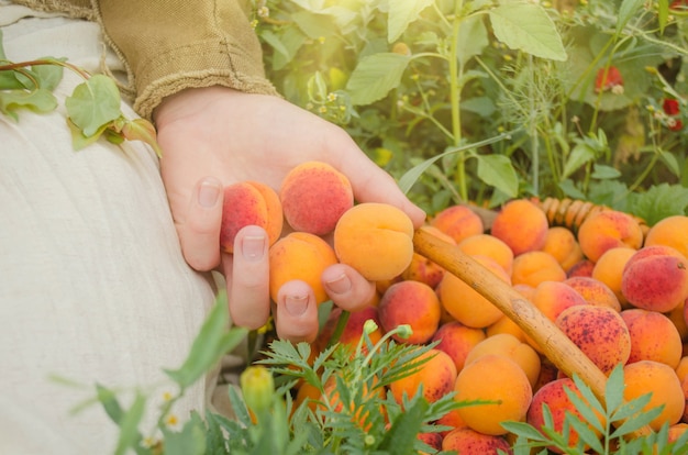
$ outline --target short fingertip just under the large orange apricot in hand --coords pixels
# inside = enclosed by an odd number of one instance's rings
[[[334,304],[343,310],[360,310],[375,297],[375,284],[344,264],[328,267],[322,282]]]

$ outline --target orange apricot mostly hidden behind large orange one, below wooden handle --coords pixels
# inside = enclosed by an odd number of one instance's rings
[[[525,373],[531,387],[535,386],[540,377],[540,355],[529,344],[508,333],[488,336],[468,353],[466,365],[489,354],[502,355],[515,362]]]

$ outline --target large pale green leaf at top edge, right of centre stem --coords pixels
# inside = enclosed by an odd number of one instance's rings
[[[536,57],[566,60],[566,51],[552,19],[539,4],[504,2],[489,10],[495,36],[512,49]]]

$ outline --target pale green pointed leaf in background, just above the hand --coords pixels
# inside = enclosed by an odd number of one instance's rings
[[[352,102],[370,104],[385,98],[399,86],[410,60],[408,56],[395,53],[379,53],[362,58],[346,84]]]

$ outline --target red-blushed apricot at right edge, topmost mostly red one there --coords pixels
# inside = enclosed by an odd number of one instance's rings
[[[634,307],[672,311],[688,298],[688,259],[670,246],[639,249],[623,268],[621,293]]]

